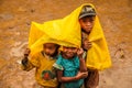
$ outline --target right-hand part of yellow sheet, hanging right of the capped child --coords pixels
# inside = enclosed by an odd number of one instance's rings
[[[91,4],[90,4],[91,6]],[[94,8],[94,6],[91,6]],[[100,25],[99,19],[96,15],[94,28],[88,36],[92,46],[87,52],[86,65],[91,69],[102,70],[111,66],[111,58],[108,51],[108,45]]]

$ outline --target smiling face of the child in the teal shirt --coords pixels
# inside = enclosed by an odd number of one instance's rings
[[[73,58],[77,53],[77,48],[76,47],[65,47],[63,46],[63,54],[67,57],[67,58]]]

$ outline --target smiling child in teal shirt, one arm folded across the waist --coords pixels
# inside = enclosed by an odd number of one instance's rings
[[[63,88],[80,88],[87,77],[87,67],[82,58],[82,50],[63,46],[58,59],[53,65],[57,70],[58,81]]]

